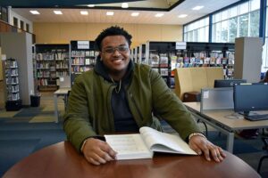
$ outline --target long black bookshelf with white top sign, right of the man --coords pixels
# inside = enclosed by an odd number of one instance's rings
[[[146,60],[167,85],[174,88],[173,69],[222,67],[224,78],[233,78],[234,44],[194,42],[147,42]]]

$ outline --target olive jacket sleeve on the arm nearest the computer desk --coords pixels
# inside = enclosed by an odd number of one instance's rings
[[[151,70],[150,77],[153,90],[153,108],[156,114],[167,121],[185,141],[189,134],[201,133],[195,118],[165,84],[160,74]]]

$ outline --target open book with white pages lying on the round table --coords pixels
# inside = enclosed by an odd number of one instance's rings
[[[140,134],[105,135],[106,142],[117,152],[116,158],[153,158],[154,152],[197,155],[179,135],[165,134],[143,126]]]

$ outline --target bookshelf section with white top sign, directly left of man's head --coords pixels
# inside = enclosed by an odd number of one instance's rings
[[[73,85],[75,77],[94,69],[98,52],[94,41],[71,41],[70,49],[71,85]]]

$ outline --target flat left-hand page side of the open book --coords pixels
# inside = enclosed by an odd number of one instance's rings
[[[140,134],[105,135],[106,142],[117,152],[117,159],[152,158],[153,152],[147,148]]]

